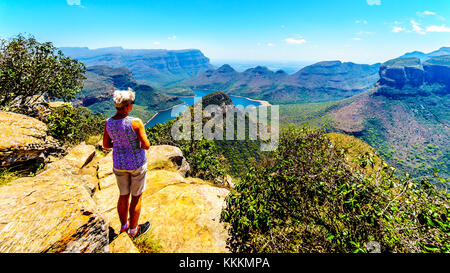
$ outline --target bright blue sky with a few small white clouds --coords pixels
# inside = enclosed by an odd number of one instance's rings
[[[450,46],[449,0],[0,0],[0,38],[198,48],[214,60],[383,62]]]

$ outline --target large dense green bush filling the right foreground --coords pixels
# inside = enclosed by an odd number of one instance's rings
[[[233,252],[448,252],[449,194],[398,179],[385,163],[352,169],[321,130],[289,127],[227,197]]]

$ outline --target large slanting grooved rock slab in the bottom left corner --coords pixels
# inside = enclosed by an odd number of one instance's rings
[[[0,252],[106,252],[108,226],[82,174],[93,146],[75,147],[35,177],[0,187]]]

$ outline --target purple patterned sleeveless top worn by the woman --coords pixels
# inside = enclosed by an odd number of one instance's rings
[[[106,130],[113,141],[114,168],[118,170],[136,170],[147,162],[145,150],[131,126],[137,118],[126,117],[106,121]]]

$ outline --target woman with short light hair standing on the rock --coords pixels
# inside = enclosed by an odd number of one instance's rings
[[[134,99],[135,93],[131,90],[114,92],[114,106],[117,112],[106,121],[103,134],[103,147],[113,149],[113,171],[120,190],[117,203],[122,224],[120,232],[128,232],[132,238],[150,229],[149,222],[138,225],[147,175],[145,150],[150,148],[150,143],[142,121],[129,116]],[[129,202],[130,194],[131,202]]]

